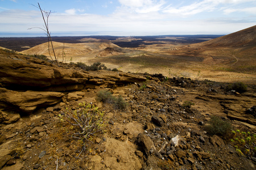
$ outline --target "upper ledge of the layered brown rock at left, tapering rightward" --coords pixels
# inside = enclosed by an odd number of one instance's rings
[[[72,91],[90,84],[113,87],[117,84],[142,82],[143,76],[114,72],[65,69],[34,57],[0,54],[0,87],[14,90]],[[91,86],[90,86],[91,87]]]

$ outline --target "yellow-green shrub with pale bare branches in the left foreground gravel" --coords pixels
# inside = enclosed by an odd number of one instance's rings
[[[80,154],[86,149],[85,143],[90,141],[104,127],[104,115],[105,113],[99,111],[94,105],[86,103],[80,103],[79,108],[74,111],[66,108],[63,118],[76,127],[69,133],[72,134],[73,138],[79,139],[81,143],[84,143]],[[59,116],[61,117],[61,114]]]

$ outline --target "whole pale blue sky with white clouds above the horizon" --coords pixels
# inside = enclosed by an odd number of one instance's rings
[[[52,36],[225,35],[256,24],[256,0],[0,0],[0,37],[44,36],[38,3]]]

